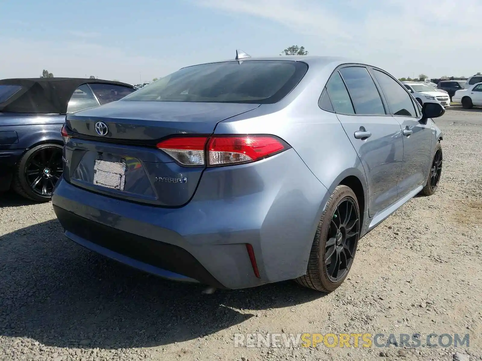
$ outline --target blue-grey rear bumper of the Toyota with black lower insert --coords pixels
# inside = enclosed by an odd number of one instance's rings
[[[283,165],[290,171],[281,174]],[[250,192],[250,181],[241,178],[246,174],[259,177]],[[161,277],[237,289],[305,274],[328,198],[288,150],[252,164],[207,169],[193,199],[179,208],[110,198],[64,179],[52,203],[66,236],[84,247]],[[246,244],[253,247],[259,278]]]

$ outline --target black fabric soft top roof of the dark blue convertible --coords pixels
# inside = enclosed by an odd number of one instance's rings
[[[86,83],[115,84],[134,89],[131,84],[101,79],[71,77],[0,79],[0,86],[22,86],[21,90],[0,103],[0,112],[66,114],[68,101],[73,92]]]

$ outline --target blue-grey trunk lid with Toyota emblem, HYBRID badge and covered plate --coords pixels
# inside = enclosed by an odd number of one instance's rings
[[[258,106],[118,101],[70,114],[64,177],[112,197],[182,206],[192,198],[204,167],[179,165],[156,148],[157,142],[176,134],[211,134],[218,122]],[[105,135],[99,135],[99,122],[107,127]]]

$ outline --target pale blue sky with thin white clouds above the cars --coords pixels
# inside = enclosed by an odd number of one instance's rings
[[[0,78],[137,84],[295,44],[395,77],[469,77],[482,72],[481,14],[482,0],[1,0]]]

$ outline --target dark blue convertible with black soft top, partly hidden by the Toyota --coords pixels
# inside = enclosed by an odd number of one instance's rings
[[[62,175],[60,129],[68,113],[117,101],[130,84],[80,78],[0,80],[0,192],[50,201]]]

